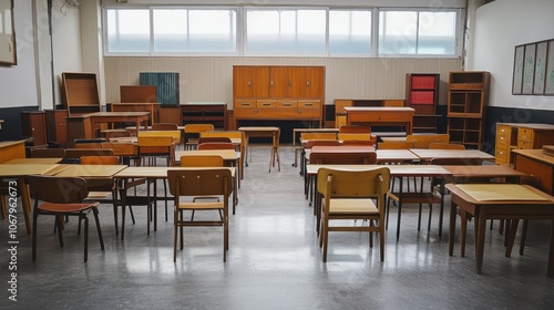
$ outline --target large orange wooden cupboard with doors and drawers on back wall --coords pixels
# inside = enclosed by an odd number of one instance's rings
[[[314,121],[322,125],[324,66],[233,68],[233,115],[242,120]]]

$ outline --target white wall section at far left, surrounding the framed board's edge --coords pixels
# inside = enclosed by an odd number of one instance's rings
[[[0,66],[0,107],[35,106],[34,35],[31,0],[14,1],[18,64]]]

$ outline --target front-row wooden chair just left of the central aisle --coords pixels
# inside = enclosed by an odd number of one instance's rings
[[[179,228],[181,249],[183,249],[184,226],[223,226],[223,261],[227,260],[229,248],[228,230],[228,200],[233,192],[233,178],[230,170],[223,169],[195,169],[195,170],[168,170],[170,192],[174,198],[174,230],[173,230],[173,261],[177,259],[177,228]],[[222,196],[219,202],[182,202],[182,197],[195,196]],[[220,210],[223,219],[214,220],[185,220],[183,210]]]

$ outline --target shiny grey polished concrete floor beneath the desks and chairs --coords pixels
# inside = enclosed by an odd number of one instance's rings
[[[488,231],[483,273],[475,273],[473,229],[465,257],[448,255],[438,238],[438,208],[431,230],[417,230],[417,208],[402,211],[400,240],[396,220],[387,235],[386,260],[367,235],[330,236],[328,262],[321,262],[314,210],[304,197],[302,178],[290,164],[294,151],[281,148],[281,170],[268,173],[269,149],[253,148],[245,169],[230,247],[223,262],[223,232],[187,228],[185,248],[173,262],[172,219],[146,235],[144,207],[135,207],[125,240],[115,236],[113,214],[101,207],[105,250],[91,227],[89,262],[83,264],[76,221],[64,231],[64,248],[52,232],[52,219],[39,223],[38,261],[20,217],[17,254],[18,301],[8,300],[7,250],[1,258],[1,309],[553,309],[554,279],[546,277],[548,223],[530,227],[525,255],[504,257],[503,236]],[[160,204],[162,205],[162,204]],[[427,218],[428,208],[424,208]],[[163,208],[158,209],[163,218]],[[208,216],[208,215],[204,215]],[[396,219],[397,209],[391,209]],[[91,221],[93,223],[93,221]],[[352,225],[362,225],[352,223]],[[0,221],[0,244],[8,225]],[[516,245],[519,246],[519,244]]]

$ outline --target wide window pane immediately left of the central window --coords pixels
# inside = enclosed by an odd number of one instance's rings
[[[153,10],[154,52],[235,52],[233,10]]]

